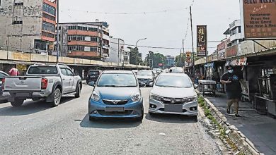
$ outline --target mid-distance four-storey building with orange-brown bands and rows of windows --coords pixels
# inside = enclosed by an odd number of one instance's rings
[[[91,23],[61,23],[59,25],[63,29],[67,29],[67,56],[94,60],[105,60],[109,57],[108,23],[96,21]]]

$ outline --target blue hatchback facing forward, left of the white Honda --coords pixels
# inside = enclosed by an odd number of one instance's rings
[[[139,82],[132,71],[105,70],[94,87],[88,103],[89,120],[95,118],[144,118]]]

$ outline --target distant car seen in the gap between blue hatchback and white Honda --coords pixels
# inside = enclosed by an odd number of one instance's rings
[[[139,70],[137,73],[139,85],[151,86],[154,83],[155,76],[152,70]]]

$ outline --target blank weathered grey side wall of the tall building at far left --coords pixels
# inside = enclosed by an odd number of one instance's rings
[[[13,2],[1,1],[0,49],[30,51],[34,47],[34,39],[41,38],[42,0],[21,0],[23,6],[14,6]],[[13,19],[22,19],[23,24],[13,25]]]

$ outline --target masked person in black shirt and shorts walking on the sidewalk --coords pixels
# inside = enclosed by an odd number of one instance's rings
[[[241,99],[241,85],[245,85],[243,82],[243,77],[241,74],[237,74],[234,72],[234,68],[232,66],[226,66],[227,73],[222,75],[220,82],[226,85],[226,96],[227,96],[227,113],[230,113],[230,109],[232,104],[234,104],[235,108],[235,116],[241,117],[238,115],[238,101]]]

